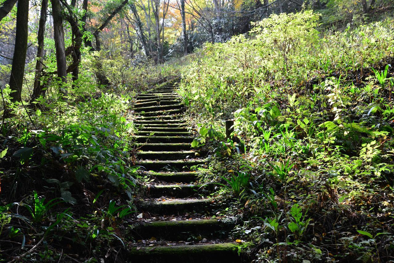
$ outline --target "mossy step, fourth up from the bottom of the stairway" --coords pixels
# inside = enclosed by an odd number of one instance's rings
[[[199,193],[212,189],[209,185],[201,188],[201,185],[180,184],[180,185],[148,185],[146,187],[147,196],[160,198],[161,196],[171,196],[175,198],[184,198],[196,196]]]

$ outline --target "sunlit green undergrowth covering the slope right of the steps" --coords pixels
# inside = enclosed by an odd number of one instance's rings
[[[392,259],[392,18],[319,32],[312,11],[271,15],[206,44],[179,90],[210,147],[256,262]],[[225,138],[224,121],[234,121]],[[245,182],[246,180],[246,182]],[[230,209],[234,213],[234,209]]]

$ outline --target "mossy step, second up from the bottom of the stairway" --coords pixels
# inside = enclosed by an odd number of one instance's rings
[[[203,219],[143,223],[137,225],[133,231],[136,232],[135,239],[155,237],[156,239],[186,241],[191,234],[207,239],[227,238],[226,233],[232,228],[234,228],[234,223]]]

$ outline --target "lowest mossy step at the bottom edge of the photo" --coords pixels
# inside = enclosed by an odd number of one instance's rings
[[[241,263],[238,244],[201,244],[182,246],[133,247],[128,255],[133,262],[144,263]],[[250,261],[249,261],[250,262]]]

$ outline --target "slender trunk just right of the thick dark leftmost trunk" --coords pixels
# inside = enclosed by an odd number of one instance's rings
[[[41,13],[40,21],[38,25],[38,48],[37,48],[37,62],[35,63],[35,76],[34,76],[34,86],[33,94],[30,102],[35,101],[41,94],[41,76],[43,73],[43,57],[44,57],[44,33],[45,33],[45,23],[46,23],[46,9],[48,9],[48,0],[42,0],[41,2]]]

